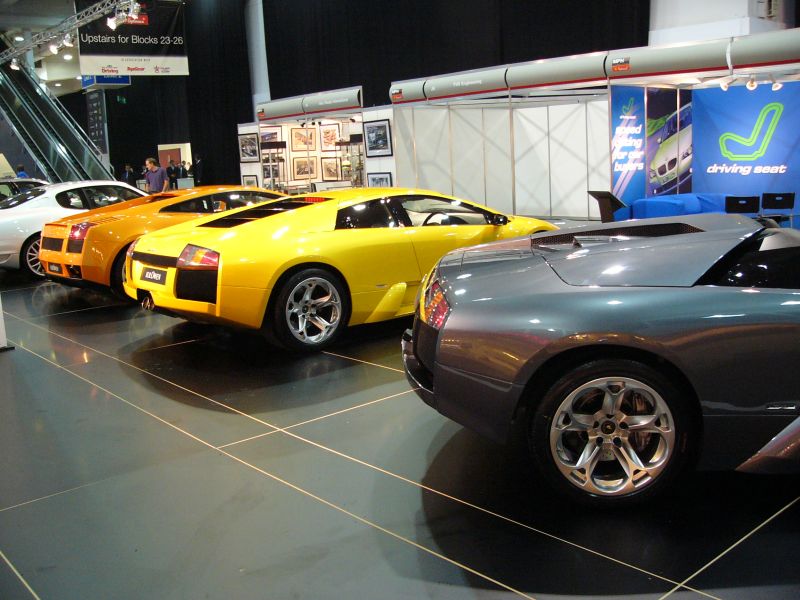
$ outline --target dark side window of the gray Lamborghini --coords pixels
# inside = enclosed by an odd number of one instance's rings
[[[725,265],[712,285],[800,289],[800,233],[767,230],[761,239]]]

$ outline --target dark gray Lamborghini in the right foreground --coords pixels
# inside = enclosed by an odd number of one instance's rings
[[[800,232],[709,214],[451,252],[403,359],[426,403],[523,433],[579,501],[647,500],[698,461],[797,472]]]

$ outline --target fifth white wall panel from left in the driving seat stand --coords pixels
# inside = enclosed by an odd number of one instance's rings
[[[514,160],[518,215],[550,214],[547,107],[514,110]]]

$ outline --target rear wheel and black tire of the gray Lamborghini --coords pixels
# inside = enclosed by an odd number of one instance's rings
[[[692,465],[699,428],[691,406],[648,365],[596,360],[571,369],[545,393],[528,444],[537,470],[562,495],[600,507],[638,504],[669,489]]]

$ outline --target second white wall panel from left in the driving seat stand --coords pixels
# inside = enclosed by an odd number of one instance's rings
[[[444,193],[452,189],[447,113],[444,106],[414,110],[418,187]]]

